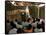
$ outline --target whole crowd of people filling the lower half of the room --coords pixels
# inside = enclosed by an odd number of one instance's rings
[[[9,21],[6,24],[6,33],[37,33],[45,31],[45,19],[43,18],[27,18],[25,21],[17,20]],[[10,29],[9,29],[10,28]]]

